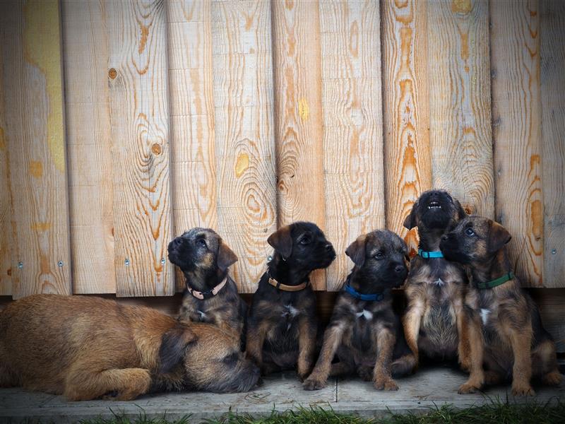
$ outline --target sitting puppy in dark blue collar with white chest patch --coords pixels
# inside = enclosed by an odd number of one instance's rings
[[[330,375],[356,372],[376,389],[398,390],[391,374],[408,374],[415,365],[391,295],[408,274],[406,244],[394,232],[377,230],[357,238],[345,254],[355,266],[335,301],[316,367],[303,387],[318,390]],[[334,355],[339,362],[332,364]]]

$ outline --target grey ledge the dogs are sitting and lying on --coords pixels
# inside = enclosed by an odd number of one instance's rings
[[[565,401],[565,387],[536,387],[537,396],[513,398],[509,386],[492,387],[483,394],[457,394],[465,375],[448,367],[420,370],[416,375],[398,379],[398,391],[376,391],[371,383],[359,379],[331,379],[319,391],[304,391],[292,372],[265,379],[262,387],[249,393],[167,393],[143,396],[131,402],[85,401],[66,402],[61,396],[34,393],[22,389],[0,389],[0,421],[19,423],[22,420],[57,423],[76,423],[91,418],[112,418],[114,414],[129,418],[182,418],[191,416],[199,423],[217,418],[227,411],[269,414],[300,406],[332,408],[336,412],[357,413],[361,416],[382,416],[393,412],[425,412],[429,408],[451,404],[456,408],[489,403],[491,399],[509,402],[552,399]]]

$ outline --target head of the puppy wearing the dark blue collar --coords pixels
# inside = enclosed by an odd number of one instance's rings
[[[387,288],[402,285],[408,275],[408,247],[392,231],[376,230],[357,237],[345,254],[355,263],[362,281],[378,279]]]

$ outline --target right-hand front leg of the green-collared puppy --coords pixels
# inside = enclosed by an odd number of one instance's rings
[[[534,396],[535,391],[530,385],[532,378],[532,332],[531,324],[525,329],[510,329],[509,338],[514,354],[512,368],[512,394],[514,396]]]

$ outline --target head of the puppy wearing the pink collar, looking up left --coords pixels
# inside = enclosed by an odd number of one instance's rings
[[[192,228],[169,243],[169,261],[182,271],[225,271],[237,256],[214,230]]]

